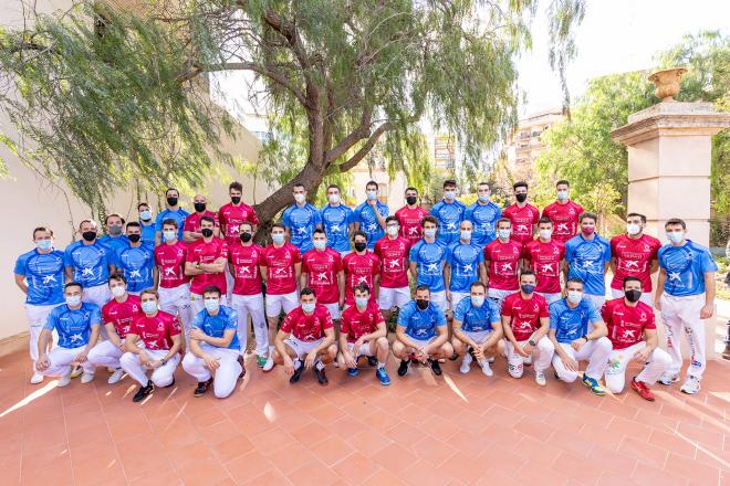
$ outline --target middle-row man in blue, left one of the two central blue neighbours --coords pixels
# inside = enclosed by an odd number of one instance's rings
[[[430,302],[437,304],[441,310],[447,309],[446,286],[444,284],[444,264],[448,249],[436,240],[436,218],[426,216],[420,222],[424,239],[410,247],[408,252],[408,267],[416,279],[416,285],[425,285],[430,289]]]

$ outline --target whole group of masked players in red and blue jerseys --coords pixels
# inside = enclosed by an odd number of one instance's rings
[[[354,210],[337,186],[317,209],[295,183],[294,203],[271,226],[265,247],[253,241],[259,220],[239,182],[217,213],[202,194],[188,213],[169,189],[156,218],[140,202],[138,221],[106,216],[103,236],[84,220],[65,251],[50,228],[36,228],[35,247],[14,270],[27,295],[31,383],[44,376],[59,377],[59,387],[76,376],[90,383],[102,367],[109,384],[125,374],[137,381],[138,402],[173,385],[181,361],[198,382],[196,397],[212,385],[226,398],[246,374],[250,318],[258,366],[283,367],[292,383],[312,370],[327,384],[333,361],[355,377],[367,358],[387,385],[393,352],[399,377],[413,362],[440,376],[439,362],[459,357],[462,373],[476,363],[490,377],[505,357],[513,378],[532,366],[544,387],[552,366],[560,380],[582,376],[603,395],[606,388],[620,393],[628,363],[637,361],[630,388],[653,401],[650,385],[679,380],[684,335],[691,359],[681,391],[697,393],[706,368],[701,319],[712,315],[717,265],[686,239],[685,222],[666,222],[663,246],[644,233],[646,218],[629,213],[626,233],[608,241],[596,232],[596,215],[570,200],[567,181],[557,182],[556,201],[542,212],[528,202],[526,183],[513,190],[514,202],[500,209],[489,184],[479,183],[467,207],[447,180],[430,211],[408,188],[406,205],[390,214],[373,181]],[[605,302],[608,268],[613,299]],[[583,373],[580,361],[587,361]]]

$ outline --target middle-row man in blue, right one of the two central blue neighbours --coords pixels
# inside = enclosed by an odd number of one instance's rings
[[[470,295],[471,284],[487,277],[484,253],[473,243],[473,225],[465,220],[459,225],[459,241],[448,246],[444,281],[449,309]]]

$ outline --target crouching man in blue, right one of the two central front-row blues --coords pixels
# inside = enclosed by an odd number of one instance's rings
[[[471,362],[477,361],[481,372],[491,377],[489,358],[497,355],[503,331],[499,307],[491,299],[484,300],[486,296],[483,283],[469,285],[469,295],[455,306],[451,345],[457,355],[463,355],[459,371],[468,373]]]

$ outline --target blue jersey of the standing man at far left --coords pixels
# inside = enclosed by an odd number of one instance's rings
[[[42,254],[38,249],[23,253],[15,261],[15,275],[22,275],[28,282],[25,304],[33,306],[51,306],[61,304],[65,267],[63,252],[52,250]]]

